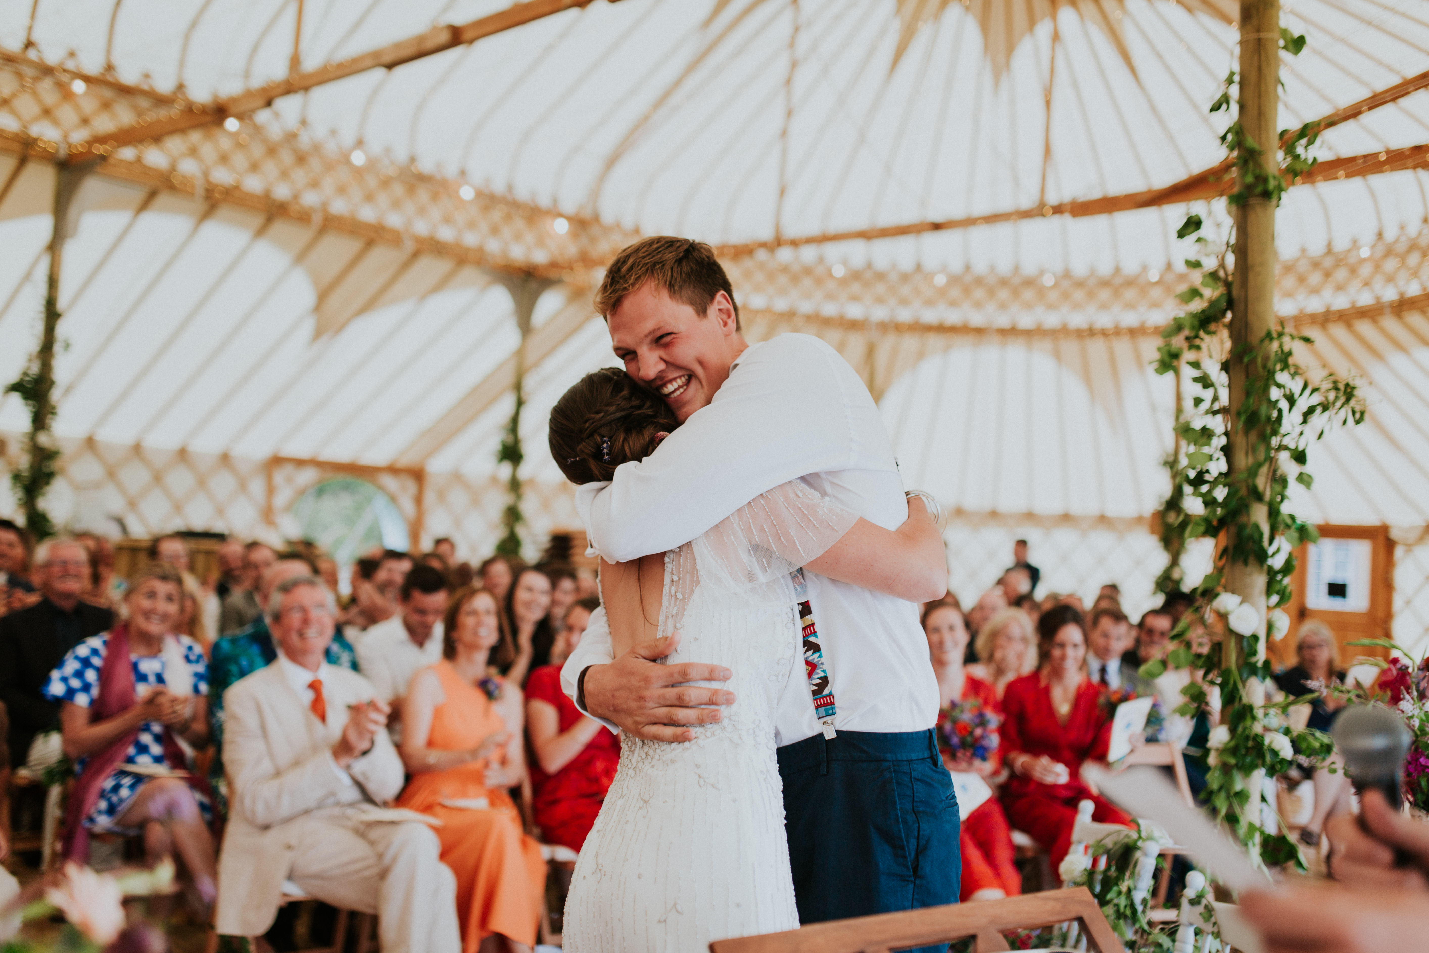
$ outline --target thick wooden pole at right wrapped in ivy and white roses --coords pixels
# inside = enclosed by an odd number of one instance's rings
[[[1213,113],[1235,110],[1222,136],[1236,169],[1228,197],[1235,253],[1199,234],[1199,216],[1177,231],[1196,237],[1198,256],[1186,264],[1199,281],[1180,293],[1192,310],[1162,333],[1156,364],[1163,374],[1183,364],[1189,374],[1189,401],[1176,424],[1185,457],[1175,454],[1169,464],[1172,493],[1162,516],[1172,557],[1163,579],[1179,569],[1186,540],[1216,542],[1215,566],[1192,590],[1195,604],[1177,626],[1169,663],[1198,673],[1183,713],[1205,709],[1213,690],[1220,696],[1205,797],[1265,863],[1282,864],[1300,856],[1262,812],[1260,782],[1293,759],[1316,764],[1330,752],[1319,732],[1286,724],[1285,709],[1302,699],[1265,703],[1266,639],[1289,629],[1275,607],[1289,602],[1295,547],[1316,539],[1286,499],[1292,476],[1306,487],[1313,482],[1305,469],[1309,446],[1336,423],[1360,423],[1365,409],[1352,380],[1306,373],[1295,346],[1309,339],[1275,317],[1275,209],[1286,181],[1315,164],[1305,150],[1318,129],[1275,129],[1279,51],[1298,54],[1305,37],[1279,27],[1276,0],[1242,0],[1240,14],[1242,69],[1226,77],[1212,106]],[[1165,667],[1152,663],[1143,673],[1155,677]]]

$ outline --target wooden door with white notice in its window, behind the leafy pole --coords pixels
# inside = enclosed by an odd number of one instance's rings
[[[1393,639],[1395,544],[1386,526],[1320,526],[1320,539],[1295,550],[1290,577],[1290,632],[1272,642],[1278,666],[1295,664],[1295,636],[1310,619],[1319,619],[1340,644],[1340,664],[1359,656],[1389,654],[1383,649],[1349,646],[1358,639]]]

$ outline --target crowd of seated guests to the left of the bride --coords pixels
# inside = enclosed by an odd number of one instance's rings
[[[220,933],[263,934],[296,884],[377,913],[383,949],[530,949],[542,843],[582,847],[619,762],[560,692],[599,607],[564,553],[380,550],[339,599],[312,546],[223,540],[200,582],[163,536],[117,579],[103,537],[31,552],[0,522],[4,770],[69,766],[64,854],[176,856]]]

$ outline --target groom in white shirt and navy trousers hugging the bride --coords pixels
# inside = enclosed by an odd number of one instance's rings
[[[650,457],[579,494],[604,559],[674,549],[795,479],[886,529],[907,519],[867,387],[816,337],[747,344],[733,289],[707,244],[667,236],[632,244],[606,271],[596,309],[626,373],[682,421]],[[917,607],[815,573],[806,579],[832,697],[799,659],[776,716],[799,919],[956,903],[957,800],[932,729],[937,683]],[[807,634],[807,617],[805,626]],[[719,706],[735,696],[683,684],[727,680],[730,672],[656,662],[674,647],[676,639],[657,639],[612,659],[609,634],[592,626],[562,683],[609,724],[686,742],[694,737],[686,726],[720,720]]]

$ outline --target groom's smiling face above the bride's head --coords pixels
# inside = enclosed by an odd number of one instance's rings
[[[745,350],[735,306],[723,291],[699,314],[646,281],[620,299],[606,320],[626,373],[660,394],[680,423],[710,401]]]

